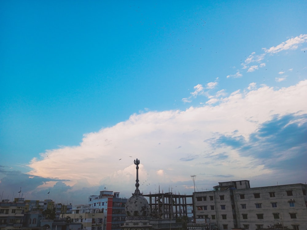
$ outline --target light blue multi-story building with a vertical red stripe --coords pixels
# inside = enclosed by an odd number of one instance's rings
[[[119,192],[100,191],[99,195],[88,197],[88,205],[104,213],[103,230],[120,230],[124,224],[127,199],[120,198]]]

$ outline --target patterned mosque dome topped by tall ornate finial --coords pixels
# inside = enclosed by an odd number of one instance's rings
[[[149,204],[145,197],[142,196],[138,187],[138,165],[140,161],[138,159],[134,160],[136,165],[136,183],[135,191],[126,202],[126,221],[123,230],[149,230],[152,226],[149,224]]]

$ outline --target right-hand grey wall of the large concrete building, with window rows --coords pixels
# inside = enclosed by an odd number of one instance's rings
[[[239,227],[268,228],[279,223],[290,229],[307,229],[304,184],[234,190],[234,199]]]

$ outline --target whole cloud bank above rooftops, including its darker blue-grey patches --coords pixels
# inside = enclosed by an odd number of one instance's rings
[[[6,176],[0,186],[28,183],[29,198],[51,188],[62,199],[78,200],[76,194],[83,194],[86,201],[105,187],[129,197],[135,189],[136,158],[144,193],[154,193],[160,185],[164,191],[176,186],[175,192],[191,194],[193,174],[196,185],[207,188],[230,179],[261,178],[258,186],[278,178],[279,183],[303,182],[304,167],[288,167],[289,162],[302,164],[307,152],[302,98],[307,98],[307,80],[280,89],[258,88],[253,82],[243,92],[216,99],[215,106],[133,114],[85,134],[78,146],[41,153],[29,163],[28,174],[2,171]]]

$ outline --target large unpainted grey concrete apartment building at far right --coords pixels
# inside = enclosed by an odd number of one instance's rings
[[[250,188],[249,181],[222,182],[212,191],[194,192],[195,218],[211,218],[218,228],[307,229],[307,185]]]

